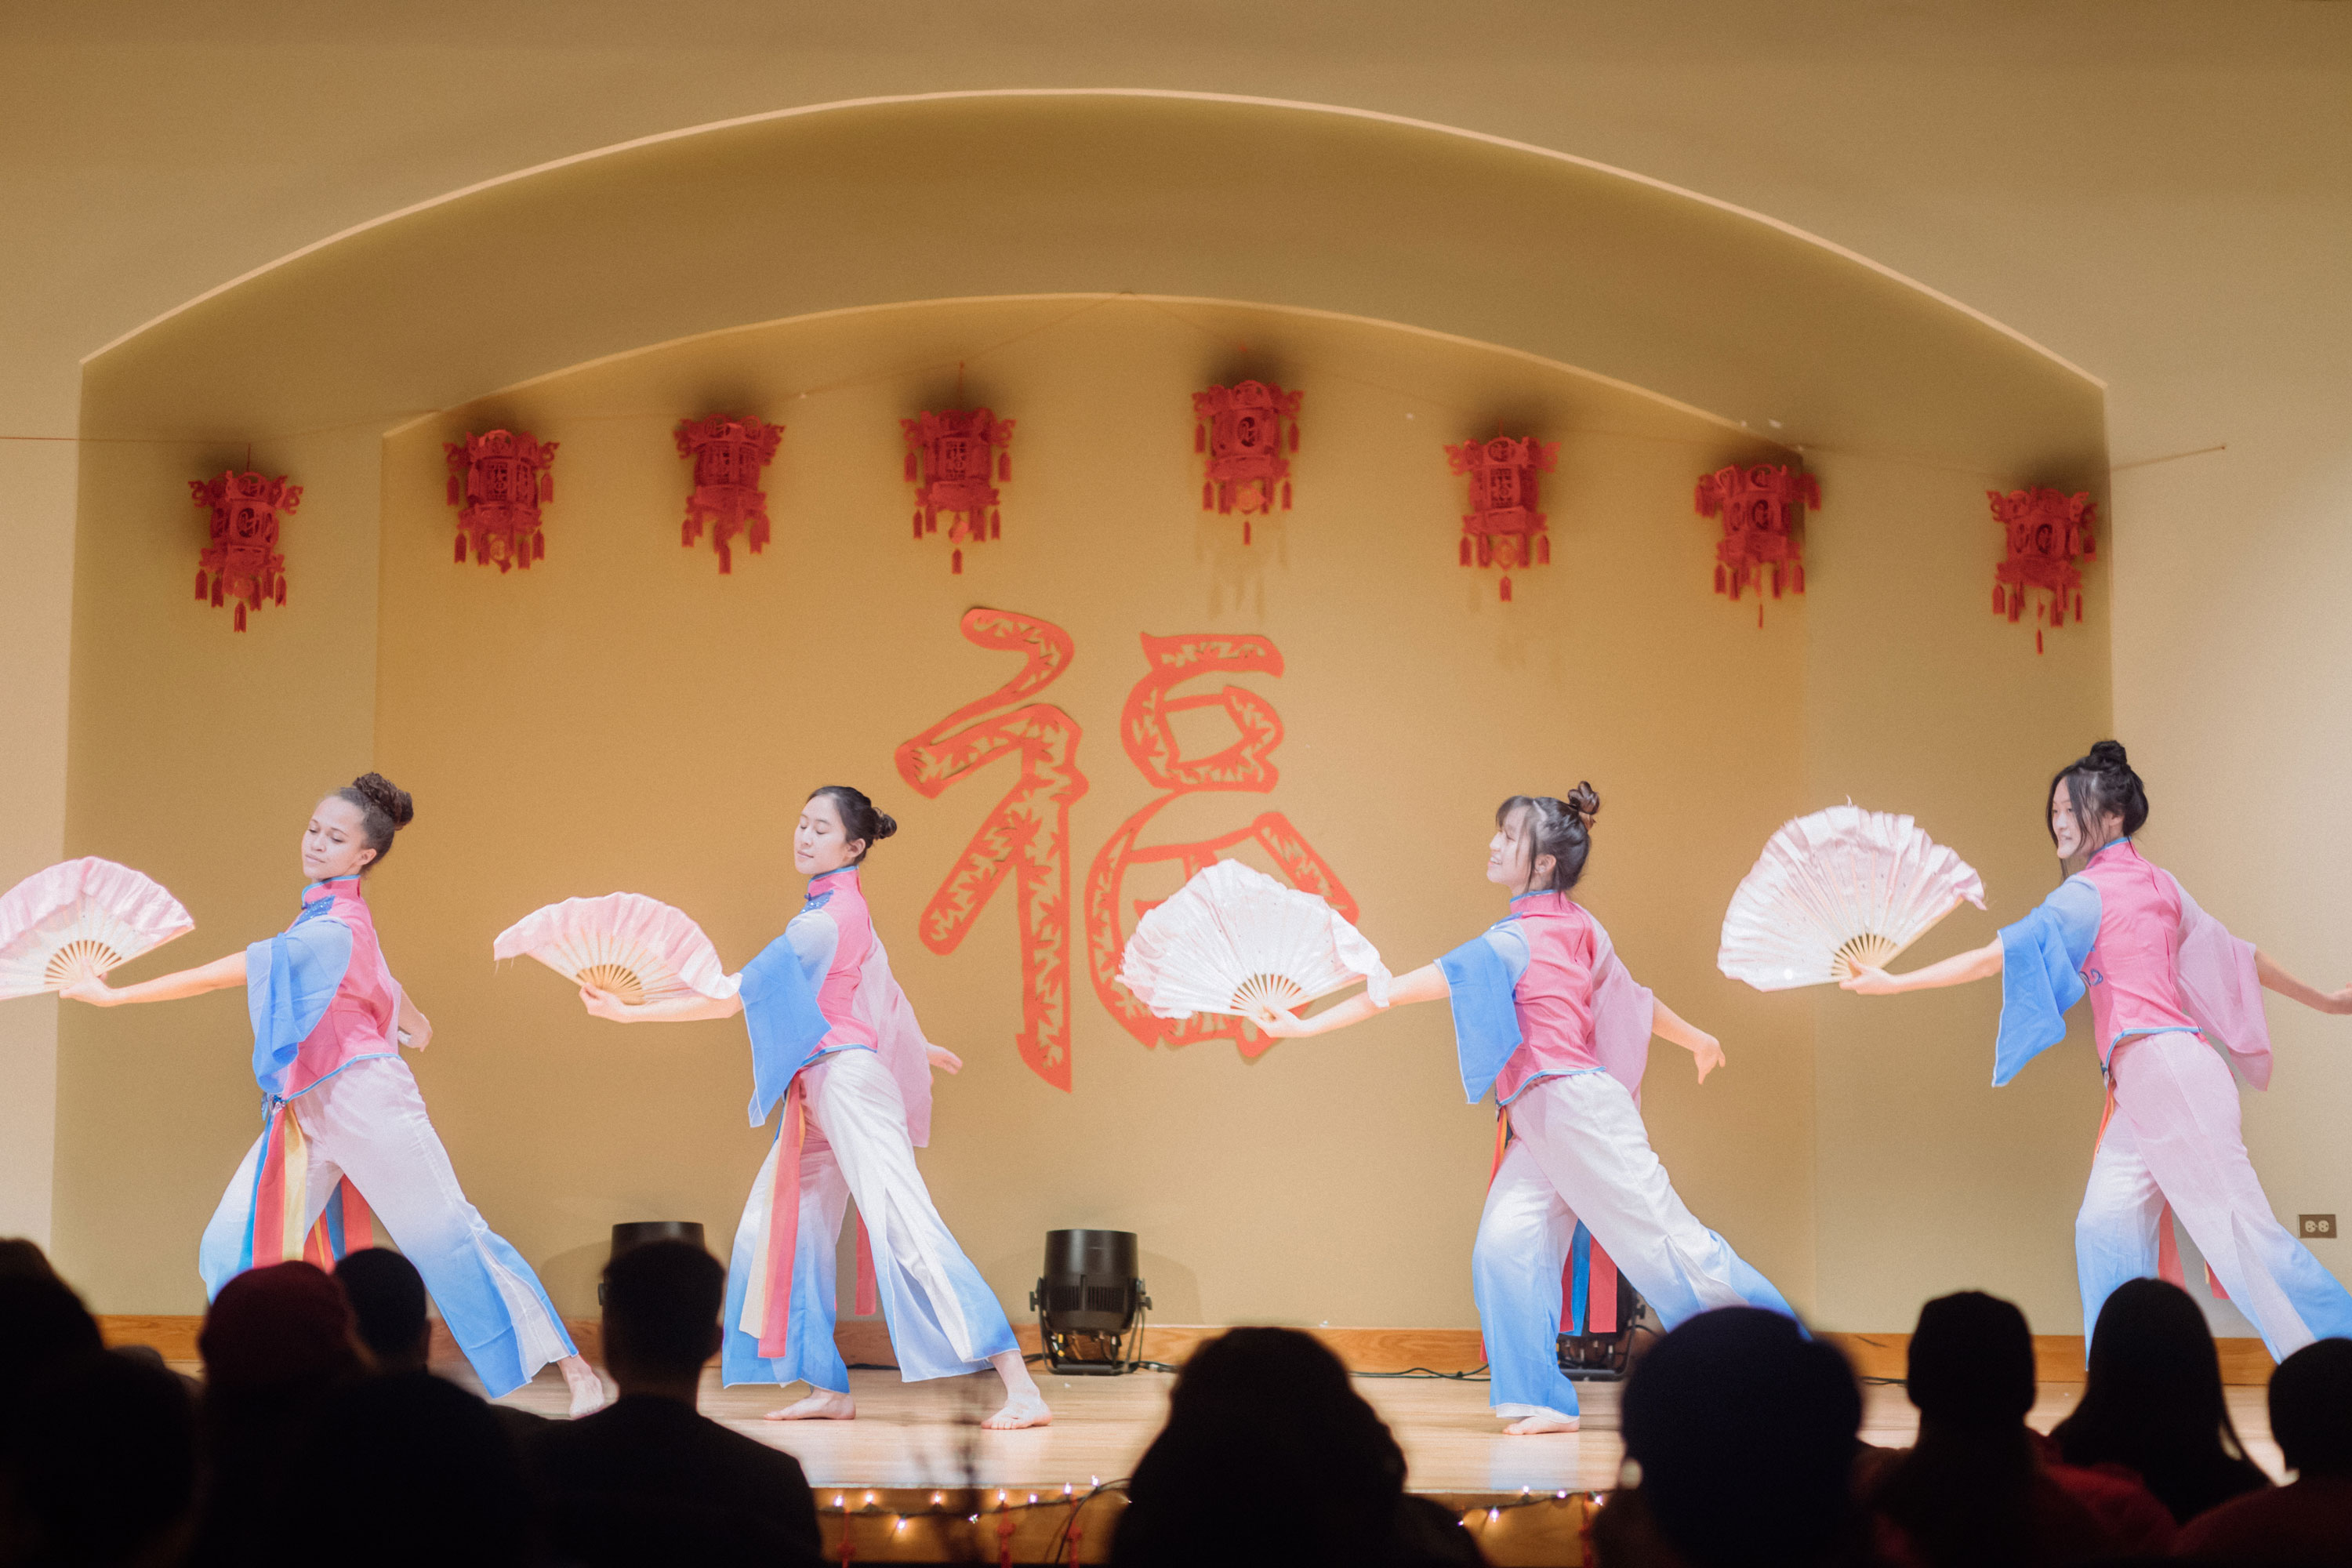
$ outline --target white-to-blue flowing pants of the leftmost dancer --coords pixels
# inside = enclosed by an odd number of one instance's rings
[[[532,1265],[466,1201],[407,1063],[395,1056],[350,1063],[296,1095],[292,1107],[308,1140],[303,1229],[318,1222],[334,1185],[348,1175],[423,1274],[449,1335],[494,1399],[529,1382],[548,1361],[574,1354],[572,1335]],[[207,1300],[252,1255],[261,1143],[256,1138],[245,1152],[205,1227],[198,1272]]]

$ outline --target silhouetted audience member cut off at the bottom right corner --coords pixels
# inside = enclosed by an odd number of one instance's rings
[[[2352,1340],[2314,1340],[2270,1375],[2270,1436],[2293,1486],[2192,1519],[2178,1556],[2277,1568],[2352,1566]]]

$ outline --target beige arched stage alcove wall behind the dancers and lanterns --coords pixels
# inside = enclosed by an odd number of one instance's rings
[[[1068,101],[967,108],[974,136],[1065,132],[1073,113]],[[1997,889],[1997,914],[2039,896],[2046,872],[2013,830],[2013,802],[2039,788],[2044,755],[2105,726],[2105,646],[2070,637],[2037,658],[2030,632],[1985,614],[1999,545],[1983,489],[2096,484],[2096,386],[1844,256],[1618,176],[1298,110],[1098,108],[1103,143],[1136,155],[1160,136],[1127,125],[1134,115],[1200,118],[1178,127],[1185,148],[1256,127],[1287,172],[1324,176],[1327,188],[1291,179],[1272,193],[1317,221],[1277,235],[1296,240],[1287,256],[1185,249],[1204,202],[1214,216],[1230,193],[1204,197],[1176,160],[1160,169],[1162,200],[1129,190],[1120,209],[1162,223],[1143,244],[1131,223],[1089,216],[1101,193],[1063,143],[1091,141],[1061,134],[1047,136],[1058,162],[993,165],[1011,172],[988,186],[988,205],[1047,221],[964,230],[995,252],[927,242],[908,259],[882,242],[884,219],[941,193],[894,188],[906,160],[809,160],[793,139],[811,122],[762,125],[437,207],[92,362],[89,433],[186,435],[195,461],[151,444],[85,449],[68,844],[165,877],[205,922],[193,945],[247,940],[282,924],[289,872],[273,844],[322,785],[376,762],[419,788],[435,830],[421,823],[402,846],[381,900],[388,943],[445,1030],[421,1074],[475,1197],[581,1307],[614,1218],[694,1206],[729,1220],[760,1152],[734,1121],[739,1041],[724,1030],[604,1039],[546,976],[492,980],[487,936],[541,896],[644,886],[703,914],[741,961],[786,893],[741,870],[762,870],[774,837],[736,835],[715,813],[814,773],[887,778],[896,741],[1002,677],[955,639],[971,602],[1065,616],[1080,635],[1056,693],[1096,736],[1096,785],[1077,811],[1091,853],[1143,799],[1108,745],[1141,675],[1136,632],[1254,630],[1289,658],[1282,679],[1251,682],[1291,726],[1270,804],[1343,867],[1376,940],[1418,957],[1484,924],[1475,877],[1451,891],[1435,877],[1475,853],[1486,797],[1555,769],[1592,776],[1616,856],[1595,872],[1595,905],[1661,992],[1736,1048],[1733,1072],[1705,1091],[1679,1058],[1653,1081],[1658,1145],[1693,1204],[1828,1326],[1898,1326],[1929,1288],[1985,1284],[2065,1328],[2063,1215],[2086,1161],[2072,1128],[2096,1114],[2084,1074],[2053,1065],[2053,1093],[1994,1100],[1987,997],[1884,1013],[1764,999],[1715,976],[1710,957],[1722,898],[1764,832],[1846,795],[1919,811],[1962,844]],[[1127,141],[1110,134],[1122,125]],[[851,115],[835,132],[891,146],[903,127]],[[703,158],[656,167],[687,150]],[[823,195],[882,228],[835,237],[833,254],[788,252],[781,219],[736,200],[748,179],[842,167],[868,179],[833,179]],[[1536,247],[1541,277],[1477,228],[1432,219],[1482,179],[1484,209],[1512,197],[1529,223],[1557,223],[1559,242]],[[581,228],[597,212],[607,226]],[[1399,252],[1406,242],[1418,249]],[[746,254],[783,261],[750,275],[734,266]],[[851,270],[861,254],[868,266]],[[1101,277],[1112,263],[1258,282],[1270,301],[1103,299],[1136,282]],[[524,381],[729,315],[842,303],[811,277],[887,301],[950,273],[1021,294],[1094,273],[1094,289],[795,315]],[[1296,308],[1350,301],[1411,327]],[[1465,324],[1494,341],[1463,341]],[[1583,371],[1559,362],[1569,348]],[[894,418],[950,397],[957,362],[974,397],[1023,421],[1021,484],[1002,557],[946,578],[936,552],[898,559],[915,548]],[[1237,369],[1308,388],[1312,409],[1303,510],[1251,552],[1197,524],[1181,402]],[[517,386],[485,397],[501,378]],[[1698,470],[1762,447],[1653,393],[1762,421],[1802,409],[1783,425],[1806,442],[1830,503],[1811,524],[1811,592],[1773,607],[1762,630],[1748,607],[1705,592],[1708,527],[1689,512]],[[779,545],[727,581],[670,531],[684,470],[668,425],[715,407],[790,425],[771,487],[788,517]],[[1458,482],[1435,451],[1498,416],[1555,425],[1569,458],[1562,552],[1510,611],[1449,564]],[[564,440],[550,562],[529,578],[447,559],[435,442],[485,421]],[[289,607],[233,637],[223,614],[183,597],[198,524],[181,482],[242,461],[240,430],[259,433],[259,465],[310,491],[289,524]],[[1131,559],[1155,569],[1112,576]],[[1002,592],[981,592],[983,571],[1002,574]],[[835,581],[849,592],[821,592]],[[2091,597],[2098,625],[2098,574]],[[1404,635],[1367,630],[1395,616]],[[887,630],[880,656],[898,661],[856,722],[835,693],[866,693],[868,665],[844,628]],[[800,668],[818,672],[811,689],[788,684],[776,722],[739,733],[760,682]],[[710,750],[682,750],[663,719]],[[1383,752],[1378,736],[1399,722],[1458,729],[1444,748]],[[205,802],[202,820],[158,809],[158,778],[169,799]],[[1465,1324],[1486,1121],[1449,1110],[1439,1023],[1397,1020],[1324,1048],[1359,1072],[1294,1048],[1242,1070],[1225,1046],[1148,1056],[1082,990],[1080,1093],[1051,1093],[1011,1063],[1007,917],[946,959],[908,936],[983,797],[990,785],[974,783],[901,811],[910,832],[877,860],[875,900],[934,1027],[950,1034],[946,1011],[993,1041],[943,1098],[931,1168],[1009,1302],[1037,1229],[1124,1220],[1152,1248],[1164,1316]],[[1987,929],[1955,917],[1926,954]],[[463,1046],[468,1034],[496,1046]],[[68,1016],[59,1251],[108,1309],[193,1307],[188,1239],[249,1135],[240,1053],[223,999]],[[1240,1159],[1204,1157],[1204,1140]],[[1336,1222],[1362,1213],[1367,1192],[1395,1215],[1378,1248]]]

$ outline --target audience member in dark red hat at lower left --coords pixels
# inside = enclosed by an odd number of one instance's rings
[[[247,1269],[221,1286],[195,1347],[209,1479],[191,1563],[308,1561],[315,1542],[292,1537],[287,1509],[303,1488],[358,1483],[306,1453],[320,1408],[365,1373],[341,1286],[308,1262]]]

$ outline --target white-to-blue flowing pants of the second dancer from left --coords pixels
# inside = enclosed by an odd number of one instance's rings
[[[873,1239],[875,1286],[898,1373],[908,1382],[955,1378],[1016,1349],[997,1293],[948,1234],[906,1135],[906,1103],[873,1051],[835,1051],[802,1070],[809,1131],[800,1150],[800,1225],[793,1246],[793,1312],[786,1354],[762,1356],[757,1324],[743,1326],[753,1272],[767,1255],[769,1204],[783,1138],[750,1185],[727,1265],[722,1373],[736,1382],[807,1382],[849,1392],[849,1368],[833,1342],[835,1244],[849,1199]],[[790,1107],[786,1107],[786,1117]],[[781,1133],[781,1119],[779,1119]]]

